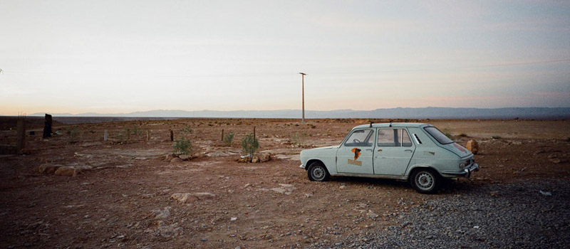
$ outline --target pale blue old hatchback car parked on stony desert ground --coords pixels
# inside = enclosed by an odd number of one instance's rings
[[[311,181],[360,176],[409,181],[431,194],[442,179],[479,171],[473,154],[430,124],[383,123],[354,127],[340,145],[301,151]]]

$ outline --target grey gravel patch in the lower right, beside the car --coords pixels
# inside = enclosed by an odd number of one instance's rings
[[[451,191],[398,213],[397,226],[311,248],[568,248],[570,181]]]

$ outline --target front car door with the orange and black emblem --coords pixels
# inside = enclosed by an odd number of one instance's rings
[[[336,170],[339,173],[374,174],[375,129],[355,129],[336,152]]]

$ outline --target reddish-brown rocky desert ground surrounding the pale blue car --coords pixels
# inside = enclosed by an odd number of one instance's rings
[[[570,189],[570,121],[564,120],[409,120],[433,124],[459,144],[480,144],[475,160],[481,170],[432,195],[418,194],[404,181],[309,181],[299,168],[299,152],[339,144],[368,120],[54,121],[53,137],[41,138],[41,122],[29,124],[36,132],[26,132],[28,152],[0,156],[0,248],[374,248],[388,241],[362,236],[401,226],[402,216],[429,211],[434,201],[472,193],[489,201],[509,198],[499,186],[526,188],[529,182],[555,183],[527,189],[533,198],[556,199],[558,206],[570,201],[563,191]],[[254,127],[259,152],[272,158],[239,163],[240,142]],[[222,129],[235,134],[232,145],[221,141]],[[192,141],[194,159],[165,160],[173,151],[170,130],[175,139]],[[11,133],[4,134],[0,144],[12,141]],[[69,167],[73,174],[55,175],[46,170],[51,166]],[[176,194],[189,198],[182,202],[172,198]],[[550,210],[561,221],[558,232],[532,229],[546,237],[568,236],[560,234],[569,230],[567,213]],[[402,236],[408,236],[405,230]],[[413,241],[427,247],[432,238]],[[559,246],[500,239],[481,235],[458,246]]]

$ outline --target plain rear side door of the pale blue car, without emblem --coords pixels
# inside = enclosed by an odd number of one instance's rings
[[[415,144],[403,128],[378,128],[374,149],[374,174],[402,176],[410,164]]]

